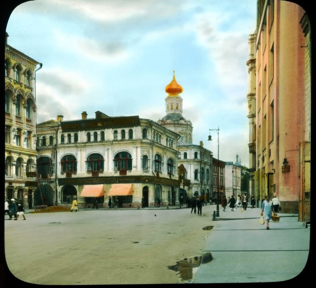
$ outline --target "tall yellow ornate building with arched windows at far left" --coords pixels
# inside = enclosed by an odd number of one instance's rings
[[[6,33],[5,198],[21,199],[32,208],[37,187],[35,72],[42,64],[8,45],[8,37]]]

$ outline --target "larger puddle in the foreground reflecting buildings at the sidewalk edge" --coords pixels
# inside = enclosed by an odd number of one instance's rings
[[[176,262],[175,265],[168,266],[168,269],[177,272],[181,282],[189,281],[193,279],[193,275],[196,273],[198,267],[202,263],[201,256],[192,256],[189,258],[183,258]]]

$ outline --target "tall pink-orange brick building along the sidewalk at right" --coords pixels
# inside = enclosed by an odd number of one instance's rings
[[[259,0],[247,61],[249,191],[310,219],[311,26],[288,1]]]

